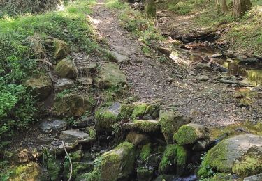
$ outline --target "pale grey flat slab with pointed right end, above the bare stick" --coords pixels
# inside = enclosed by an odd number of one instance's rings
[[[69,144],[88,143],[95,140],[91,135],[85,132],[80,132],[78,129],[62,131],[59,139]]]

